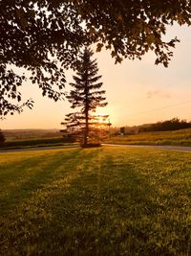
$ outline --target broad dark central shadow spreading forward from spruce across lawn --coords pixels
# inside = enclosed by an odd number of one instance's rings
[[[77,177],[53,200],[52,220],[40,234],[42,255],[141,253],[149,218],[158,211],[155,188],[111,156],[86,160],[81,159]]]

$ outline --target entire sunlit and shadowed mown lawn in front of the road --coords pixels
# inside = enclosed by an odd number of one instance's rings
[[[0,154],[0,255],[190,255],[191,153]]]

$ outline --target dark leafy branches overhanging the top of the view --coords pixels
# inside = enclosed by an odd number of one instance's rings
[[[168,65],[177,38],[163,41],[166,26],[191,22],[190,0],[6,0],[0,2],[0,115],[22,111],[24,67],[42,94],[63,95],[64,69],[76,68],[80,48],[96,43],[116,62],[154,51]],[[59,64],[58,64],[59,62]],[[13,101],[12,101],[13,100]],[[20,103],[20,105],[17,105]]]

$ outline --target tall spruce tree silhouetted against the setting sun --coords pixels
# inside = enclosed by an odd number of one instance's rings
[[[96,107],[105,106],[105,90],[101,90],[101,76],[97,75],[98,67],[96,59],[92,59],[93,51],[85,48],[79,58],[79,65],[76,76],[73,76],[74,82],[70,85],[73,89],[67,96],[71,107],[77,109],[76,112],[66,115],[63,125],[68,130],[82,135],[83,146],[88,146],[88,139],[93,133],[97,132],[100,125],[97,116],[93,113]]]

